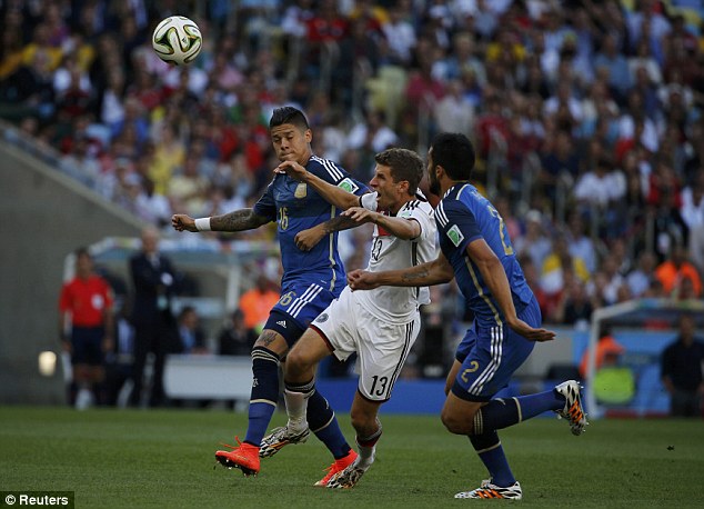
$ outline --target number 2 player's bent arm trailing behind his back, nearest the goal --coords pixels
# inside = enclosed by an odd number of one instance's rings
[[[531,341],[550,341],[551,339],[555,339],[553,331],[535,329],[517,317],[515,306],[513,306],[511,286],[509,285],[506,271],[501,260],[499,260],[484,239],[476,239],[470,242],[466,247],[466,251],[482,273],[491,295],[501,308],[506,325],[511,327],[511,329]]]

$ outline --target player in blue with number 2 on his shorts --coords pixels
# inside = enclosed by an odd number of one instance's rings
[[[450,432],[470,437],[490,478],[455,498],[521,499],[521,485],[496,430],[553,410],[579,436],[586,418],[575,380],[536,395],[495,398],[535,341],[549,341],[555,335],[541,328],[537,301],[523,277],[505,223],[470,183],[473,168],[474,148],[464,134],[438,134],[428,153],[428,172],[431,192],[442,197],[435,208],[440,256],[403,270],[355,270],[348,280],[354,290],[456,280],[475,318],[457,347],[441,417]]]

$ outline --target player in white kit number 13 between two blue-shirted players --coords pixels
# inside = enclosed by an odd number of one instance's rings
[[[282,162],[276,171],[311,186],[331,204],[345,209],[339,218],[296,236],[296,244],[311,249],[331,231],[366,222],[374,224],[369,271],[409,268],[436,257],[436,226],[433,209],[419,192],[424,162],[406,149],[388,149],[375,156],[376,168],[370,182],[373,192],[354,196],[345,182],[333,186],[295,162]],[[352,402],[352,426],[356,431],[359,457],[334,475],[328,488],[351,488],[374,461],[381,437],[379,407],[391,398],[421,327],[419,308],[430,302],[423,288],[380,287],[353,292],[349,287],[303,333],[289,352],[285,401],[289,422],[262,441],[262,451],[274,455],[283,446],[305,441],[308,396],[314,391],[318,363],[331,353],[345,360],[356,352],[360,381]]]

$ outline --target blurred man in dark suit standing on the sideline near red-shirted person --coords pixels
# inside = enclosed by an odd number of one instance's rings
[[[130,405],[137,407],[141,403],[144,366],[151,352],[154,355],[154,366],[148,405],[158,407],[165,402],[165,356],[178,345],[175,320],[171,312],[178,275],[171,260],[159,252],[159,231],[154,227],[142,230],[142,248],[130,258],[130,275],[134,287],[134,365]]]

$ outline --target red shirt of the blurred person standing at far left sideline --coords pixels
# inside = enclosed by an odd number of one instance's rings
[[[74,278],[63,285],[59,310],[71,312],[74,327],[101,327],[105,309],[112,308],[112,289],[100,276]]]

